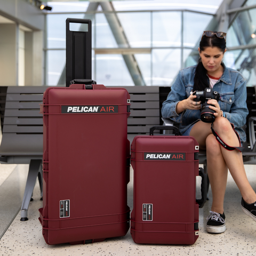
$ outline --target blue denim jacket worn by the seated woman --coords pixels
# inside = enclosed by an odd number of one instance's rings
[[[246,123],[249,111],[246,105],[246,80],[238,71],[223,65],[224,71],[219,81],[213,86],[214,91],[220,93],[220,109],[223,116],[233,123],[241,141],[246,141],[246,134],[242,126]],[[163,103],[162,116],[180,123],[183,134],[189,126],[201,120],[201,110],[186,109],[180,114],[176,112],[177,103],[187,99],[194,87],[196,66],[181,69],[171,87],[167,99]],[[209,81],[210,87],[210,81]]]

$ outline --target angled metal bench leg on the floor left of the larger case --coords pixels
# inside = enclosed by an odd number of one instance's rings
[[[20,219],[21,221],[28,220],[28,206],[29,206],[31,196],[33,194],[37,176],[38,176],[38,181],[40,184],[41,196],[42,196],[42,178],[43,178],[42,159],[38,159],[38,160],[31,159],[29,164],[29,171],[28,171],[28,178],[27,178],[25,193],[23,196],[23,201],[21,206],[21,219]]]

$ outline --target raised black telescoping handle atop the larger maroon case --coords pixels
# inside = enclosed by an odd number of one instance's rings
[[[70,31],[69,23],[87,24],[87,31]],[[74,79],[92,79],[92,21],[66,20],[66,87]]]

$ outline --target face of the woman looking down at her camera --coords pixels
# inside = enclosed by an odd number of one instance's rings
[[[203,66],[209,75],[217,74],[219,71],[222,71],[221,61],[224,53],[219,49],[219,47],[206,47],[204,51],[200,51],[198,48],[198,51],[202,59]]]

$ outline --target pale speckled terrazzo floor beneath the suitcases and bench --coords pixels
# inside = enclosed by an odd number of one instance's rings
[[[10,177],[13,172],[19,172],[20,177],[26,177],[28,165],[0,165],[0,184],[3,179]],[[247,176],[256,190],[256,166],[245,165]],[[7,170],[9,169],[9,170]],[[1,180],[2,179],[2,180]],[[131,172],[132,181],[132,172]],[[21,179],[21,187],[23,186]],[[0,187],[0,189],[1,189]],[[11,191],[5,188],[3,193]],[[22,189],[20,189],[22,193]],[[241,210],[241,195],[235,182],[229,175],[226,191],[225,214],[227,230],[222,234],[208,234],[205,230],[206,217],[211,207],[210,201],[206,202],[203,209],[199,209],[199,238],[194,245],[139,245],[135,244],[130,231],[125,237],[106,239],[101,243],[86,245],[47,245],[42,236],[41,224],[38,221],[38,209],[42,207],[38,183],[34,190],[34,201],[30,203],[26,222],[20,221],[20,213],[13,220],[0,241],[0,255],[256,255],[256,222],[247,217]],[[3,198],[1,199],[4,200]],[[3,203],[0,202],[0,209]],[[129,183],[128,204],[132,208],[132,182]],[[8,211],[8,204],[5,206]],[[10,210],[13,212],[13,210]],[[0,217],[1,218],[1,217]],[[1,218],[2,222],[2,218]]]

